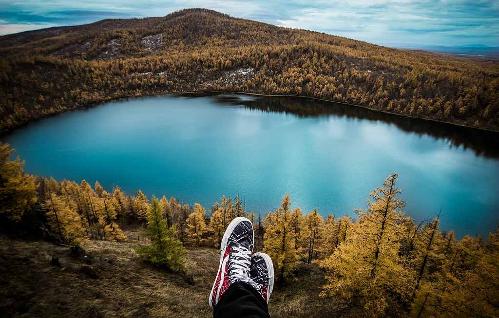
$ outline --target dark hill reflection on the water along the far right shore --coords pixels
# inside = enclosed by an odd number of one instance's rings
[[[362,107],[300,97],[265,96],[264,98],[260,98],[253,95],[211,93],[185,94],[182,96],[197,97],[210,95],[213,95],[215,101],[220,104],[244,105],[248,109],[258,109],[264,112],[293,114],[298,117],[336,116],[381,121],[393,124],[407,133],[444,139],[456,148],[463,147],[464,149],[471,149],[477,156],[499,158],[499,133],[491,131],[397,116]]]

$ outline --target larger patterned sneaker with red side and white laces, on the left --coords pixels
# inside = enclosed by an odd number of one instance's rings
[[[246,217],[237,217],[229,224],[220,246],[220,265],[213,283],[208,304],[213,309],[224,296],[229,286],[235,282],[247,282],[255,287],[250,279],[251,253],[253,253],[253,224]]]

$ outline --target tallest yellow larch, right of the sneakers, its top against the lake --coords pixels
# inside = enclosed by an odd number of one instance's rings
[[[367,211],[358,210],[359,221],[350,227],[346,241],[321,261],[328,271],[322,295],[338,297],[361,308],[370,317],[403,315],[394,306],[410,299],[412,275],[399,255],[405,203],[396,195],[397,174],[371,193]]]

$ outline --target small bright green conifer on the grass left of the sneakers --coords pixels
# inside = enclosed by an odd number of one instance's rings
[[[185,249],[175,237],[175,232],[175,226],[167,228],[159,201],[153,197],[147,210],[147,237],[152,243],[136,248],[137,253],[154,265],[165,266],[173,271],[183,270]]]

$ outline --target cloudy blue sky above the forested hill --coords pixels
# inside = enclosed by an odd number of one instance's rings
[[[205,7],[377,44],[499,46],[499,0],[0,0],[0,34]]]

